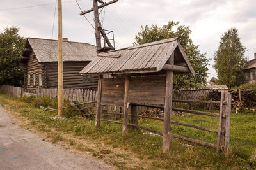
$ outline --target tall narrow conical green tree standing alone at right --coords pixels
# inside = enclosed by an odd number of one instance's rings
[[[221,36],[218,50],[214,53],[214,68],[218,74],[219,84],[235,87],[244,82],[243,68],[246,66],[245,46],[237,33],[231,28]]]

